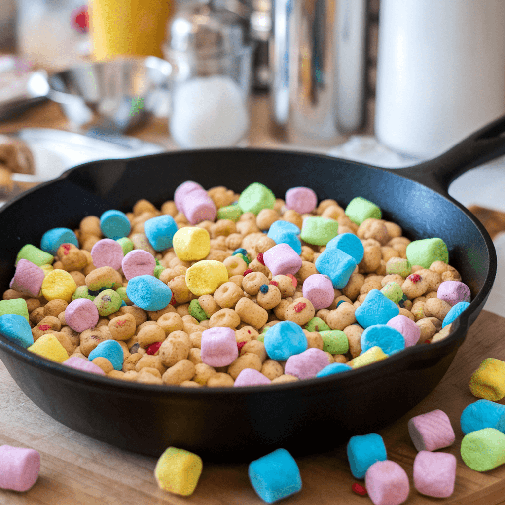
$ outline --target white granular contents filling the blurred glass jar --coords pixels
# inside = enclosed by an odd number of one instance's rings
[[[181,147],[234,145],[249,128],[239,85],[230,77],[196,77],[177,84],[170,133]]]

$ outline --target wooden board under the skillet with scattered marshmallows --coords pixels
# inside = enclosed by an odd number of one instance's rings
[[[406,416],[382,430],[388,459],[399,463],[410,478],[408,505],[505,505],[505,465],[479,473],[468,468],[460,455],[463,434],[459,419],[475,398],[468,379],[484,358],[505,360],[505,319],[483,311],[446,375],[434,391]],[[139,456],[98,442],[53,420],[19,389],[0,362],[0,444],[31,447],[40,452],[41,471],[29,491],[0,490],[0,504],[26,505],[255,505],[264,503],[247,478],[247,465],[204,463],[195,492],[189,497],[158,488],[155,458]],[[505,400],[501,400],[505,405]],[[449,416],[456,442],[442,449],[457,457],[455,491],[449,498],[430,498],[413,486],[412,466],[416,449],[407,422],[419,414],[441,409]],[[149,429],[148,426],[145,427]],[[322,455],[297,458],[302,490],[285,505],[343,505],[371,503],[351,490],[357,480],[347,464],[345,445]]]

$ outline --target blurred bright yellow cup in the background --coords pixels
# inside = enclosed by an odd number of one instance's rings
[[[93,59],[137,55],[162,58],[171,0],[89,0]]]

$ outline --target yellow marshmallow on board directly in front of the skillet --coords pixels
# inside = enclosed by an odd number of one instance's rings
[[[155,477],[158,486],[171,493],[188,496],[201,475],[201,458],[184,449],[169,447],[158,460]]]

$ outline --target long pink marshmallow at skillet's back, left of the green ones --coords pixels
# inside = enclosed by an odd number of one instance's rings
[[[207,191],[194,181],[182,183],[174,193],[174,203],[191,224],[214,221],[216,205]]]

